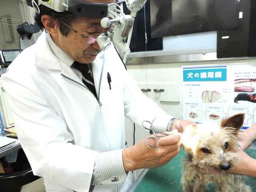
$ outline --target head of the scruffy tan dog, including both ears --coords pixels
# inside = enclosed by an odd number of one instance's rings
[[[244,123],[244,114],[223,119],[218,124],[190,125],[182,134],[182,146],[192,154],[192,163],[201,168],[213,166],[229,170],[238,162],[237,136]]]

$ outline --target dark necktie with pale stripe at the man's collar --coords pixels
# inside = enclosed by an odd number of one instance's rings
[[[93,80],[92,75],[91,75],[90,70],[89,70],[89,64],[81,64],[81,63],[75,61],[72,64],[71,68],[75,68],[75,69],[77,69],[78,71],[80,71],[82,73],[82,81],[83,81],[84,85],[97,98],[96,89],[95,89],[95,86],[94,86],[94,80]]]

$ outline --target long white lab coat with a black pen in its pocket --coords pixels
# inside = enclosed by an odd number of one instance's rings
[[[92,71],[102,106],[56,58],[43,33],[2,75],[22,148],[47,192],[87,192],[97,153],[125,146],[124,116],[141,125],[166,115],[141,93],[113,46],[97,56]],[[114,192],[117,186],[93,191]]]

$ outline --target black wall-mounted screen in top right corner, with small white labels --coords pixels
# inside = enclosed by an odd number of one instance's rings
[[[239,28],[217,32],[217,58],[256,56],[256,1],[239,2]]]

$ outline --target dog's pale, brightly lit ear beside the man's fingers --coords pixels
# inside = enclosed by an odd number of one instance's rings
[[[192,124],[184,129],[181,136],[181,146],[186,152],[193,154],[196,148],[196,133],[198,130],[198,124]]]

